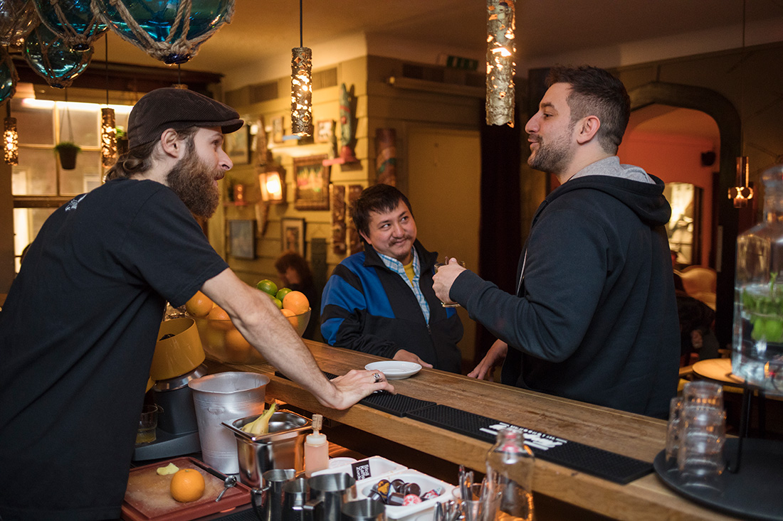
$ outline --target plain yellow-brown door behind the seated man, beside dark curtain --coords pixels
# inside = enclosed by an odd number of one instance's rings
[[[478,131],[412,128],[408,133],[408,199],[418,239],[438,258],[448,255],[478,269],[481,138]],[[464,326],[459,344],[465,365],[475,352],[476,324],[457,308]],[[470,367],[472,369],[472,366]]]

